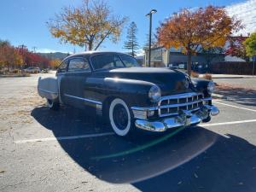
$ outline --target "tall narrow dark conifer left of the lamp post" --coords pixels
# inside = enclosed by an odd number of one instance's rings
[[[125,49],[131,50],[131,55],[136,55],[136,50],[139,49],[139,44],[137,43],[137,25],[135,22],[131,22],[127,30],[127,41],[125,41]]]

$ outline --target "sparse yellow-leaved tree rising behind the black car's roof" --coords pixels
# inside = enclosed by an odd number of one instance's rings
[[[83,0],[79,8],[66,7],[47,23],[50,33],[61,42],[98,49],[104,40],[117,43],[127,19],[113,15],[101,0]]]

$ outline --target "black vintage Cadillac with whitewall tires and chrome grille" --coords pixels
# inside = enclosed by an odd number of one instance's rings
[[[84,52],[61,62],[55,78],[39,78],[38,94],[50,109],[95,108],[121,137],[137,129],[166,131],[208,122],[212,81],[170,68],[139,67],[131,55]]]

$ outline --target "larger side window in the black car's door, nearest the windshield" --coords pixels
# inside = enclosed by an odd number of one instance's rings
[[[90,65],[88,61],[82,58],[73,58],[69,61],[68,72],[88,71],[90,72]]]

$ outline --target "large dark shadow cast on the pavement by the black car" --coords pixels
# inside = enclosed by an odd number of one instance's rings
[[[55,137],[111,131],[96,117],[73,108],[34,108],[32,117]],[[58,142],[85,172],[108,183],[131,183],[142,191],[255,191],[254,145],[199,126],[172,133]]]

